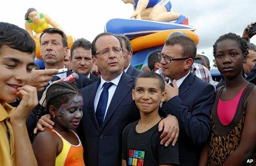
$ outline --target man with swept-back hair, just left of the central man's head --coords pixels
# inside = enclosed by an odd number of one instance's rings
[[[90,41],[83,38],[77,39],[71,47],[70,61],[74,72],[83,74],[93,82],[96,82],[99,78],[90,73],[93,67],[91,47]]]

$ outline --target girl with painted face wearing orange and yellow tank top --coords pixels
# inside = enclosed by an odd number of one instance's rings
[[[36,136],[33,149],[39,165],[84,165],[83,147],[76,132],[82,119],[83,98],[69,82],[51,84],[46,110],[55,125]]]

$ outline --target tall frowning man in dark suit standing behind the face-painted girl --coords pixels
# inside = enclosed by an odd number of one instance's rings
[[[46,69],[61,69],[64,67],[64,57],[68,52],[67,46],[67,37],[66,35],[59,29],[49,28],[45,29],[40,36],[40,49],[41,56],[45,63]],[[57,81],[58,79],[66,78],[69,76],[72,71],[67,71],[65,73],[56,74],[53,76],[52,81]],[[83,76],[83,74],[78,74],[79,79],[74,83],[78,89],[86,87],[91,84],[92,81]],[[49,81],[49,84],[52,83]],[[42,94],[45,89],[41,92],[38,92],[38,100],[41,99]],[[33,130],[36,126],[36,122],[40,119],[42,115],[44,115],[44,108],[40,104],[36,106],[36,108],[31,111],[30,115],[26,120],[26,126],[28,128],[28,132],[30,135],[30,140],[33,140]]]

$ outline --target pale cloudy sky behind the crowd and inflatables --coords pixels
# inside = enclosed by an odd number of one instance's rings
[[[212,45],[217,38],[226,33],[242,35],[244,28],[256,22],[255,0],[173,0],[172,11],[185,15],[189,25],[195,26],[199,36],[198,53],[204,52],[209,57],[211,66]],[[48,14],[74,38],[85,38],[93,41],[95,36],[104,31],[105,23],[113,18],[130,18],[132,4],[121,0],[92,1],[6,1],[2,2],[0,21],[25,28],[24,15],[30,7],[39,13]],[[250,42],[256,44],[254,36]]]

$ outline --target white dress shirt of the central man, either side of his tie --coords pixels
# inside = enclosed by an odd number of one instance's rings
[[[122,76],[122,73],[118,77],[116,77],[115,79],[112,79],[111,81],[109,81],[109,82],[113,83],[113,85],[109,88],[109,97],[108,97],[108,104],[106,104],[106,111],[109,108],[109,104],[110,104],[110,102],[111,102],[111,100],[113,98],[113,95],[115,93],[116,87],[118,87],[118,83],[119,83],[119,81],[121,79],[121,76]],[[100,94],[102,94],[103,84],[105,82],[106,81],[102,78],[102,76],[100,76],[100,84],[99,84],[99,87],[98,87],[98,90],[96,92],[95,99],[94,99],[94,110],[95,110],[95,112],[97,110]],[[106,117],[106,111],[105,111],[104,119]]]

